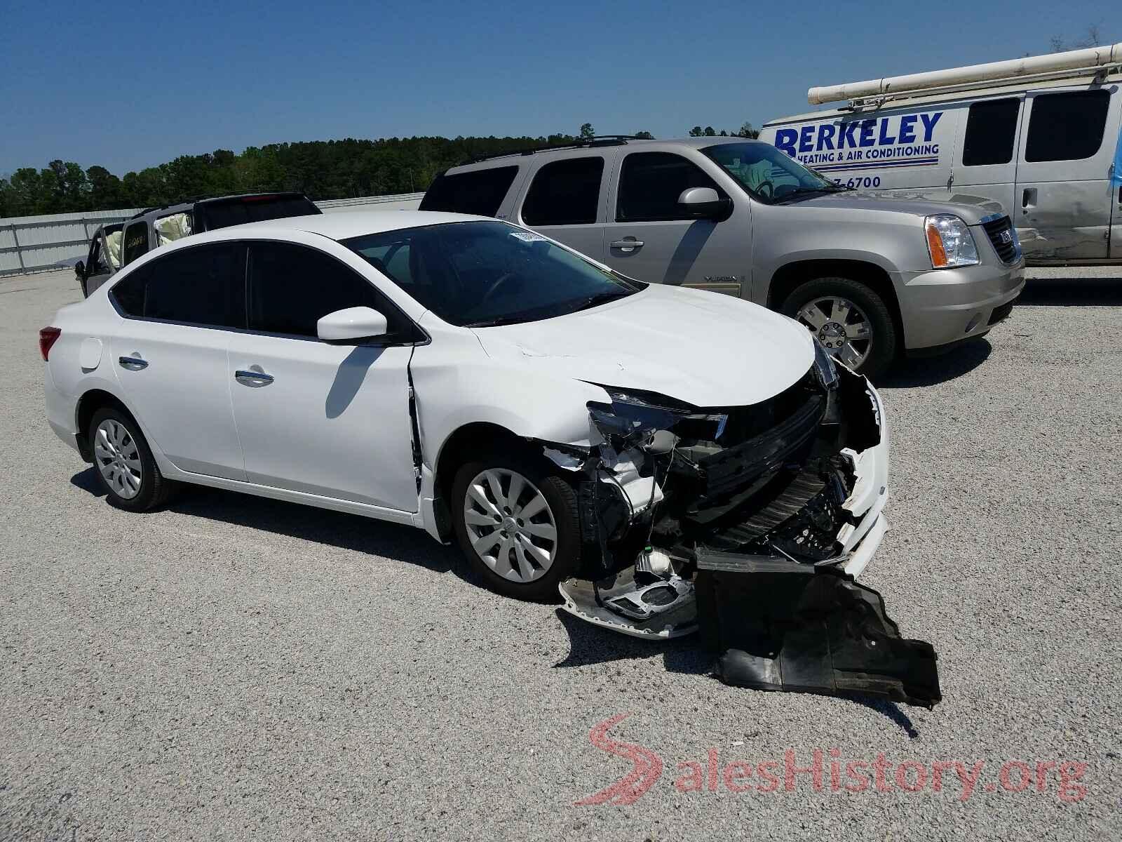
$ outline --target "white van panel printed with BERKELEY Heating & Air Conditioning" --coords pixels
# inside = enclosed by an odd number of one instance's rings
[[[967,103],[882,108],[765,126],[760,139],[858,190],[947,189]]]

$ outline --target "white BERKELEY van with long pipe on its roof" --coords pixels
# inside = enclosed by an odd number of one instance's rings
[[[1122,264],[1122,44],[811,88],[760,139],[838,184],[994,199],[1029,265]]]

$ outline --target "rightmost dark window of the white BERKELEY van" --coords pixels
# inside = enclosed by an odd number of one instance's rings
[[[1033,98],[1024,159],[1079,161],[1103,145],[1109,91],[1046,93]]]

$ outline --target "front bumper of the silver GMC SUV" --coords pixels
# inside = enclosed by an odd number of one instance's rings
[[[1024,259],[893,273],[904,348],[938,348],[986,333],[1024,289]]]

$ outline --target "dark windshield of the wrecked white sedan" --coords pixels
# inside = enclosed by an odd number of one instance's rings
[[[342,240],[441,319],[488,327],[563,315],[645,284],[506,222],[449,222]]]

